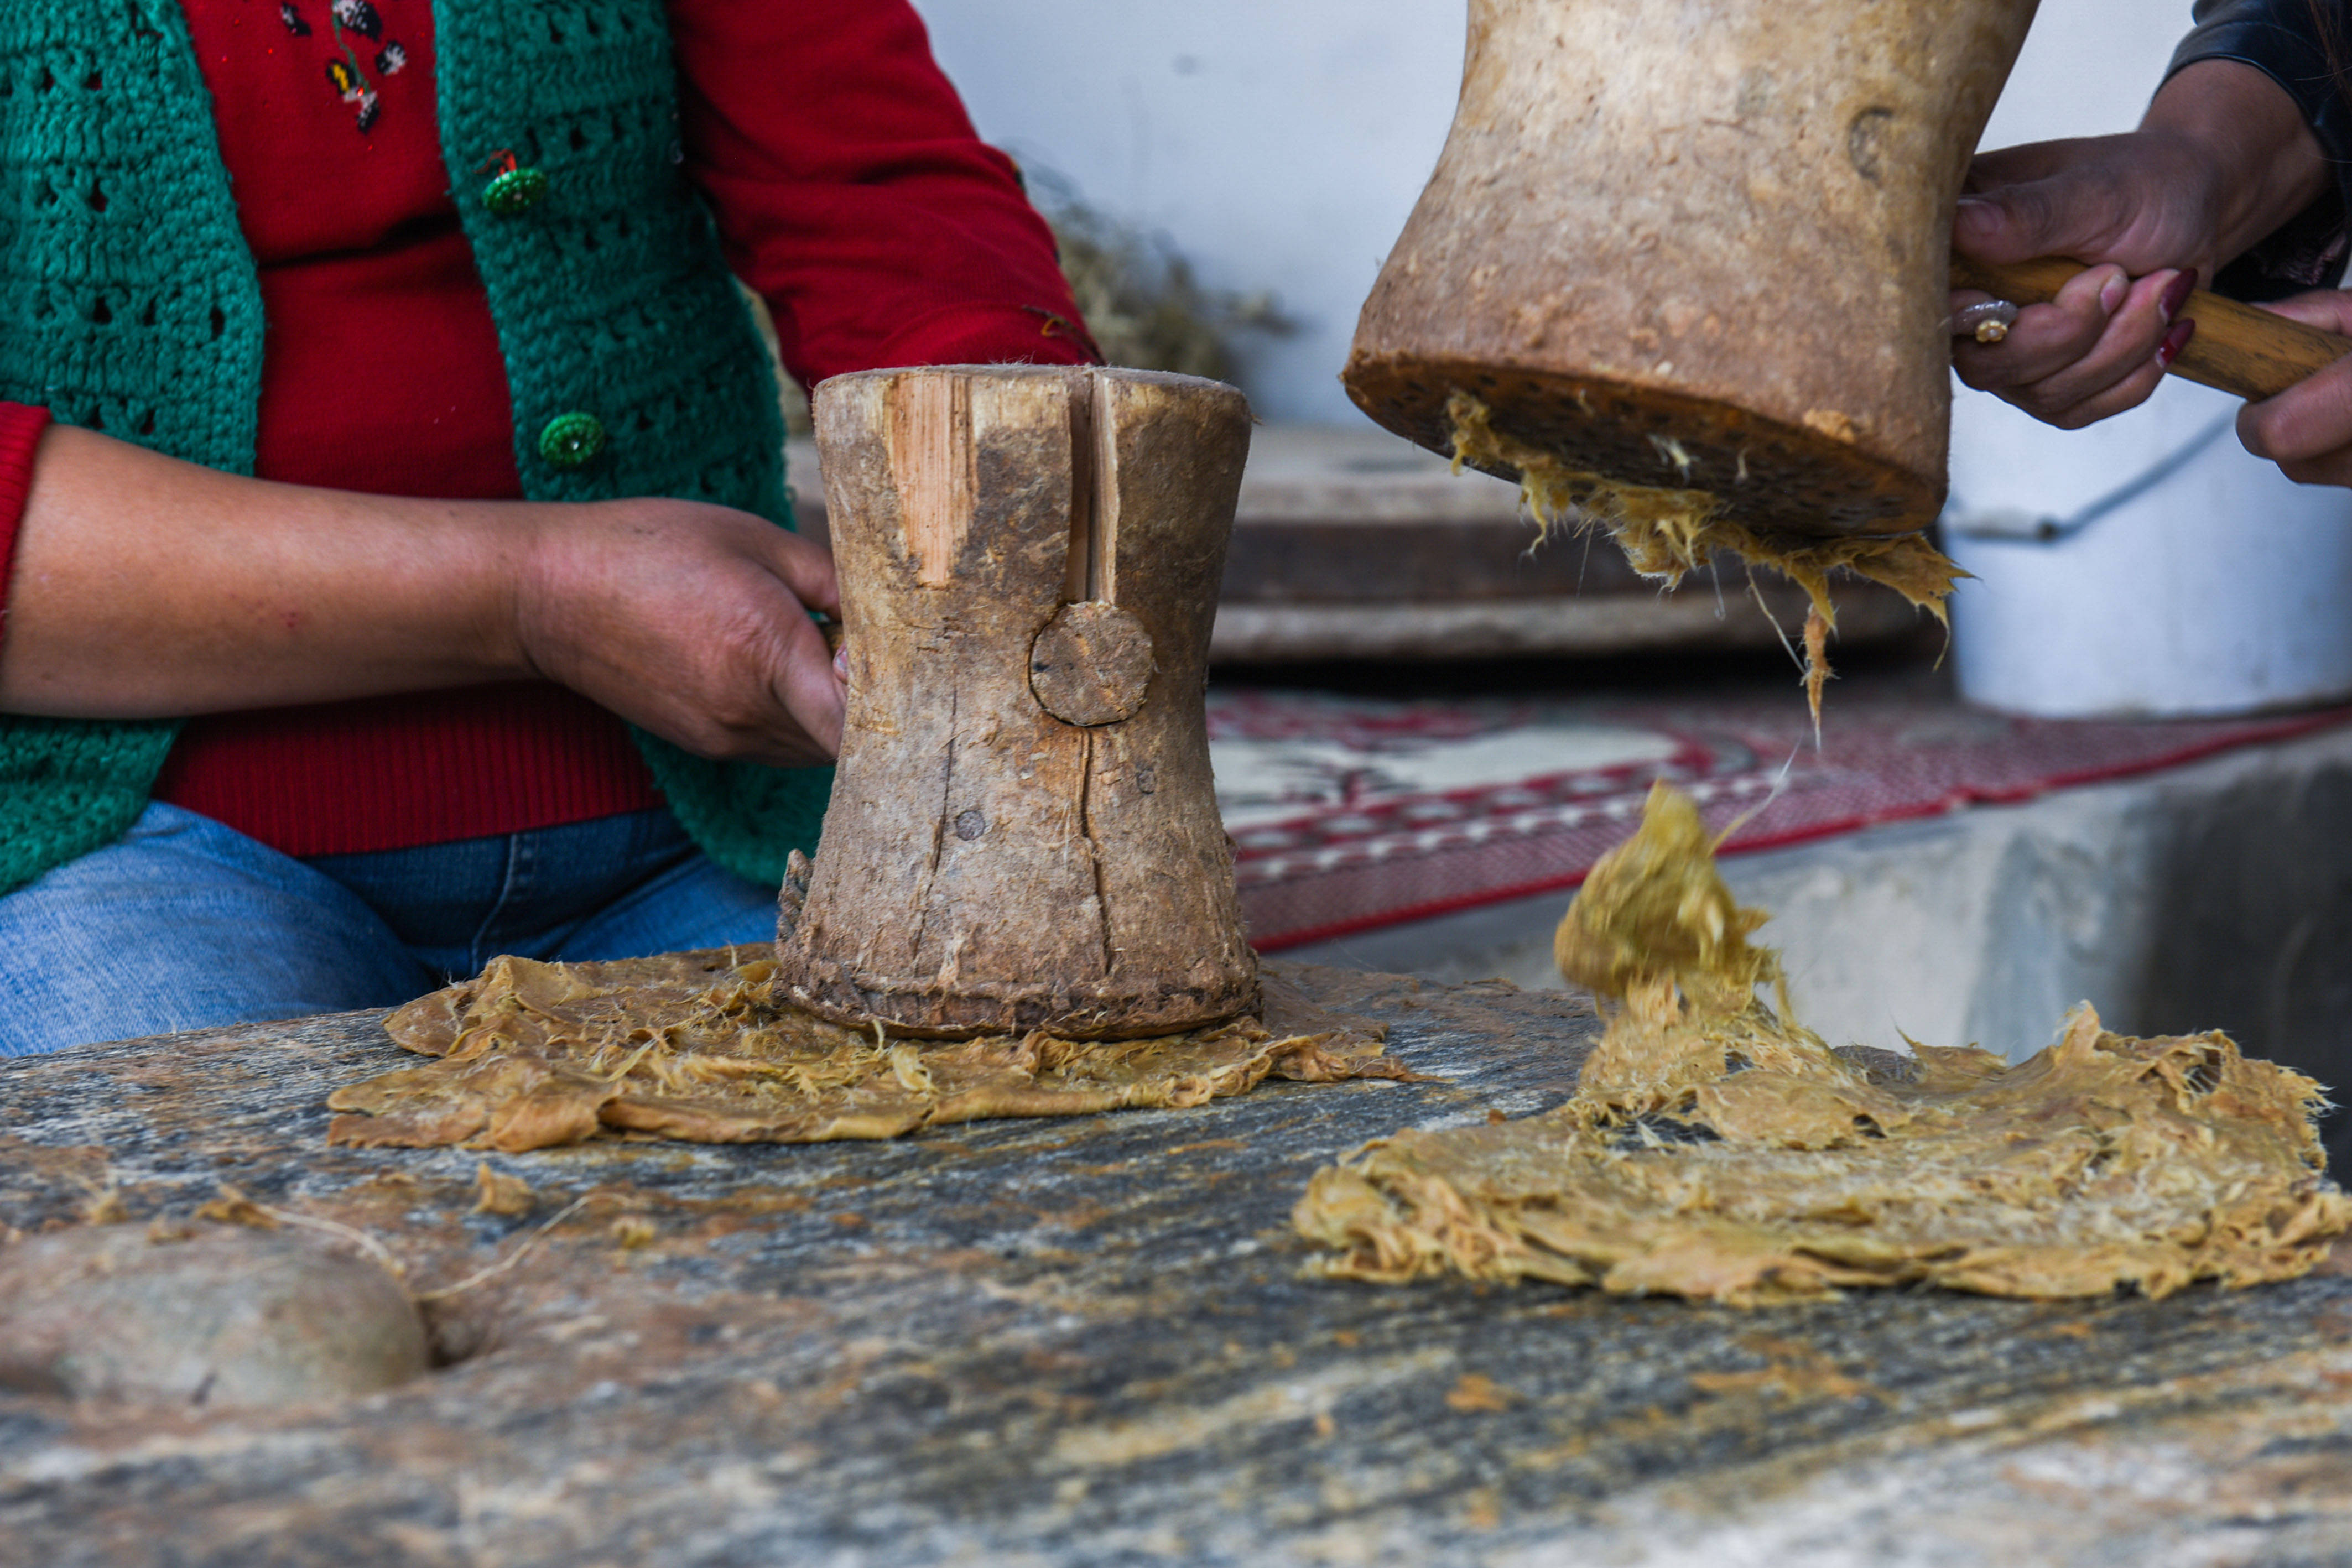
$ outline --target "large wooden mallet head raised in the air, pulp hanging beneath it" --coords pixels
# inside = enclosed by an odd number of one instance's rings
[[[1461,108],[1345,383],[1783,534],[1943,501],[1945,259],[2032,0],[1472,0]],[[1519,477],[1508,461],[1472,463]]]

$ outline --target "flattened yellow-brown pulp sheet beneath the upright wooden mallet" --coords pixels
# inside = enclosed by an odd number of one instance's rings
[[[386,1020],[421,1058],[336,1088],[327,1140],[520,1154],[590,1138],[835,1143],[1000,1117],[1185,1110],[1268,1077],[1409,1077],[1378,1030],[1268,985],[1263,1018],[1155,1039],[894,1039],[776,997],[760,950],[501,957]]]

